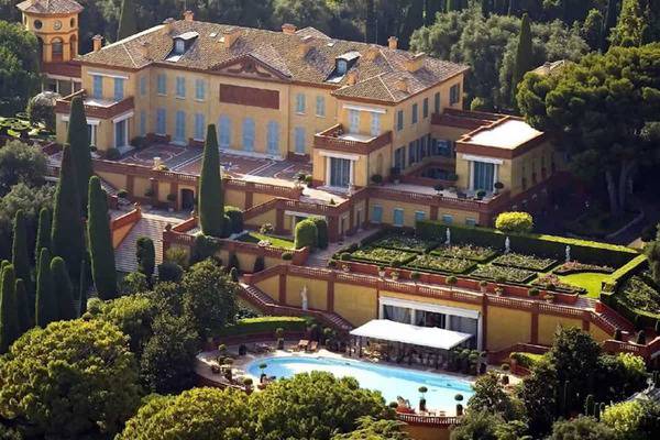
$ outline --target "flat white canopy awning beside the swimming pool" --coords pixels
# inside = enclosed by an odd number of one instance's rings
[[[395,322],[387,319],[374,319],[351,331],[354,337],[382,339],[413,345],[451,350],[465,342],[472,334],[439,329],[437,327],[418,327]]]

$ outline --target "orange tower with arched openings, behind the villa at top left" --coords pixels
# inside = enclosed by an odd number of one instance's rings
[[[78,15],[82,7],[75,0],[26,0],[16,6],[23,25],[38,40],[44,65],[68,63],[78,55]]]

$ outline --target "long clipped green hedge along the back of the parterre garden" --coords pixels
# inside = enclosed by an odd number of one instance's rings
[[[471,243],[503,250],[504,242],[508,237],[513,252],[529,253],[559,261],[565,258],[566,245],[571,246],[572,260],[587,264],[606,264],[618,267],[639,255],[635,250],[615,244],[554,235],[503,233],[487,228],[448,226],[432,220],[418,221],[417,235],[427,240],[443,241],[448,228],[451,231],[452,244]]]

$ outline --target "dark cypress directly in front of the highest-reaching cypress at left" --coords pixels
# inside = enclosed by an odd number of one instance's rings
[[[80,206],[77,188],[73,151],[70,146],[65,145],[55,191],[52,250],[53,255],[62,256],[66,261],[70,279],[79,279],[80,262],[85,252],[80,210],[72,208]]]

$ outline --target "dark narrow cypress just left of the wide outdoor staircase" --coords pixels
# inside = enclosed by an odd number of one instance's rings
[[[101,299],[114,298],[117,295],[117,273],[114,268],[114,251],[108,219],[108,201],[101,188],[101,179],[92,176],[89,179],[89,220],[87,233],[91,254],[91,277]]]

